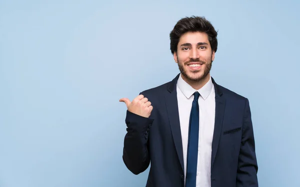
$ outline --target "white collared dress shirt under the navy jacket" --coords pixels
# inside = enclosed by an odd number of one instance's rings
[[[211,163],[211,143],[214,129],[215,100],[214,86],[209,81],[199,90],[193,89],[181,77],[177,81],[177,100],[179,122],[181,129],[184,176],[186,176],[186,154],[188,143],[188,126],[193,93],[198,91],[200,96],[199,103],[199,142],[198,142],[198,161],[196,187],[211,187],[210,184],[210,163]],[[184,177],[185,184],[185,177]]]

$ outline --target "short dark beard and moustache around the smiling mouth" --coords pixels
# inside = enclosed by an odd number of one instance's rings
[[[211,69],[211,64],[212,64],[212,56],[210,57],[210,59],[208,59],[208,61],[202,61],[202,60],[199,60],[199,59],[190,59],[189,61],[186,61],[184,63],[180,63],[179,60],[178,60],[178,56],[177,56],[177,64],[178,64],[178,67],[179,67],[179,71],[180,73],[190,82],[198,82],[198,81],[201,81],[203,80],[207,75],[208,73],[210,72],[210,69]],[[190,62],[200,62],[203,64],[205,64],[205,69],[204,69],[204,72],[202,75],[198,75],[197,74],[202,70],[195,70],[195,71],[192,71],[190,74],[194,75],[190,75],[186,72],[186,69],[184,69],[184,66]]]

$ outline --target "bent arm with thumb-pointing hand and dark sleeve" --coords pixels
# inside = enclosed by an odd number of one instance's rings
[[[132,100],[127,98],[119,100],[127,106],[125,123],[127,125],[123,147],[123,162],[133,174],[137,175],[145,171],[150,158],[148,153],[148,132],[153,118],[150,118],[153,107],[141,93]]]

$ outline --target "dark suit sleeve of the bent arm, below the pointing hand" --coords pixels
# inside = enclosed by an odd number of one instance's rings
[[[153,118],[145,118],[128,110],[126,112],[127,132],[122,158],[127,169],[135,175],[145,171],[150,164],[147,141],[153,120]]]

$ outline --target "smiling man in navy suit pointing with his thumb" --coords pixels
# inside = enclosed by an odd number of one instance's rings
[[[123,162],[146,187],[258,187],[248,99],[215,83],[217,33],[204,17],[180,19],[170,50],[180,73],[127,106]]]

